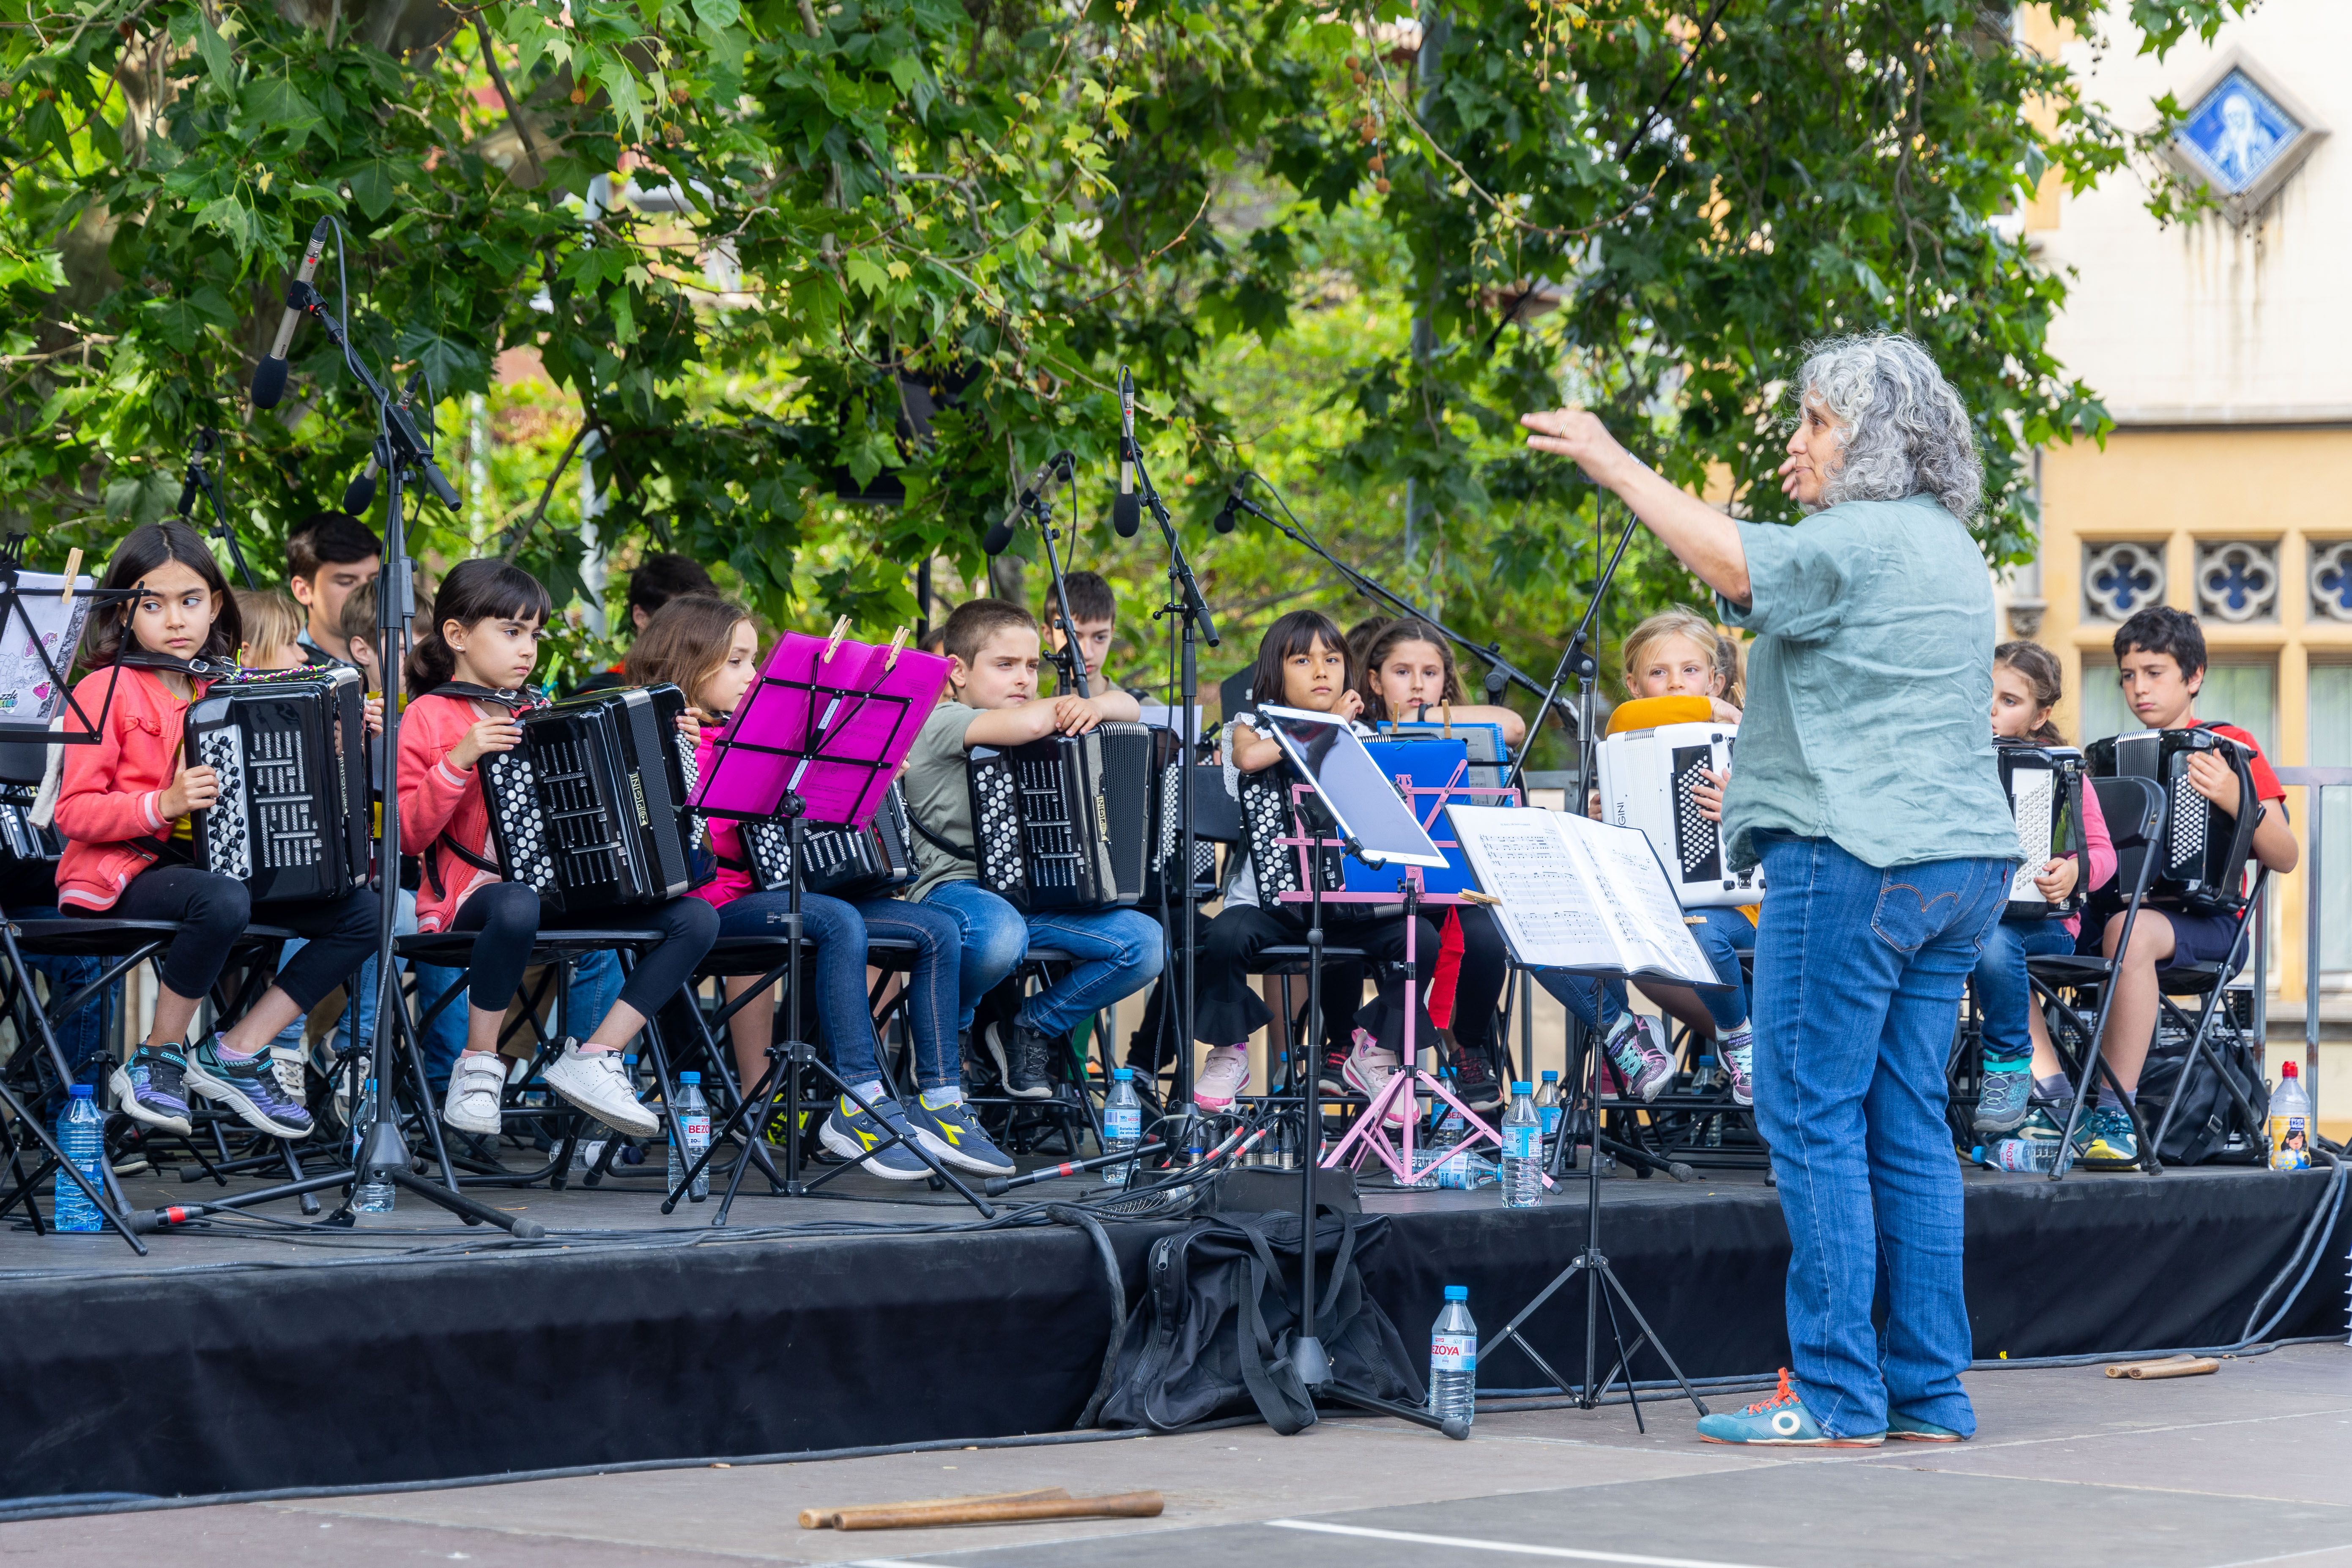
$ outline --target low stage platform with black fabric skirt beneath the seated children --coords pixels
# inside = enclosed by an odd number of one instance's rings
[[[2317,1208],[2328,1173],[1969,1173],[1978,1356],[2234,1342]],[[132,1201],[205,1187],[134,1178]],[[1070,1178],[1000,1199],[849,1173],[844,1197],[746,1194],[659,1213],[623,1190],[492,1197],[550,1237],[515,1244],[405,1199],[353,1232],[268,1215],[120,1239],[0,1234],[0,1389],[16,1434],[7,1500],[383,1486],[647,1460],[727,1460],[1070,1429],[1148,1244],[1171,1222],[1058,1222],[1098,1192]],[[1018,1204],[1018,1199],[1030,1199]],[[1418,1345],[1463,1284],[1491,1335],[1576,1253],[1583,1185],[1536,1211],[1486,1192],[1367,1185],[1390,1215],[1367,1284]],[[1788,1234],[1769,1185],[1703,1173],[1604,1182],[1602,1241],[1693,1378],[1788,1359]],[[2272,1338],[2343,1333],[2352,1201]],[[1581,1373],[1581,1288],[1531,1338]],[[1651,1359],[1639,1375],[1656,1378]],[[1484,1389],[1538,1378],[1519,1354]]]

